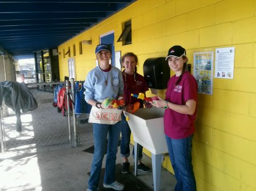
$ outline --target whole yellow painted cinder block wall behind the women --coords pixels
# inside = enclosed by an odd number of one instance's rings
[[[256,190],[256,2],[255,0],[139,0],[58,47],[60,76],[68,76],[67,52],[74,57],[77,80],[95,67],[99,36],[114,31],[115,51],[139,56],[139,73],[149,57],[166,56],[173,45],[193,53],[235,47],[234,79],[213,78],[213,94],[198,95],[192,163],[197,188]],[[132,45],[116,42],[122,23],[132,19]],[[92,45],[79,41],[92,40]],[[73,56],[75,44],[76,55]],[[171,72],[171,75],[173,73]],[[148,91],[147,96],[152,94]],[[164,97],[164,91],[158,93]],[[147,155],[149,152],[145,151]],[[169,157],[163,166],[172,172]]]

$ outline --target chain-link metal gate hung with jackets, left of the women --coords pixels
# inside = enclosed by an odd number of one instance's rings
[[[32,112],[21,113],[20,133],[15,128],[16,114],[3,102],[0,108],[2,153],[31,152],[34,149],[57,145],[77,146],[81,142],[92,141],[92,137],[87,133],[92,129],[90,123],[73,117],[70,108],[63,116],[58,107],[53,106],[54,86],[58,84],[68,87],[67,92],[71,92],[70,85],[64,82],[26,84],[37,100],[38,107]],[[11,90],[8,93],[11,94]]]

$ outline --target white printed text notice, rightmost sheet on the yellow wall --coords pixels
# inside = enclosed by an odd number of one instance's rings
[[[215,78],[233,79],[234,77],[234,47],[216,48]]]

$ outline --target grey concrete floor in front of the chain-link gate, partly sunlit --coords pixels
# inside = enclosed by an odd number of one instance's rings
[[[0,190],[85,191],[93,155],[82,150],[92,145],[92,142],[82,142],[77,147],[63,145],[31,153],[0,154]],[[129,160],[132,165],[131,156]],[[151,158],[144,155],[142,161],[151,167]],[[120,147],[116,159],[116,164],[119,163],[122,163]],[[137,178],[154,190],[152,172],[138,172]],[[175,183],[174,175],[162,168],[160,190],[174,190]]]

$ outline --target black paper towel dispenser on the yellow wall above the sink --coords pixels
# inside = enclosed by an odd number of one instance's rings
[[[143,74],[149,88],[163,90],[170,79],[170,67],[165,57],[148,58],[143,64]]]

